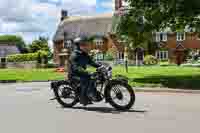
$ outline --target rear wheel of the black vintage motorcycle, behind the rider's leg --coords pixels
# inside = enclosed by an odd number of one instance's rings
[[[75,106],[79,100],[76,90],[68,82],[60,82],[53,88],[56,100],[63,107],[71,108]]]

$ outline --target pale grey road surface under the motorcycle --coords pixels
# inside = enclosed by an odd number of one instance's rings
[[[48,82],[0,84],[0,133],[199,133],[200,94],[136,91],[130,111],[62,108]]]

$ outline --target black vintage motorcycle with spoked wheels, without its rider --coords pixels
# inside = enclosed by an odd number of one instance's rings
[[[101,100],[96,102],[105,99],[106,103],[117,110],[128,110],[133,106],[135,102],[134,90],[123,76],[118,75],[112,79],[110,65],[102,64],[92,75],[95,79],[97,93],[101,96]],[[63,107],[73,107],[80,101],[80,82],[78,79],[51,82],[51,89],[53,89],[55,99]]]

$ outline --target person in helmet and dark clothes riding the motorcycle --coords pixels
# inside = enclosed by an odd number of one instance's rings
[[[80,103],[83,105],[90,104],[91,101],[98,101],[101,97],[97,93],[92,75],[86,70],[87,65],[95,68],[101,65],[94,62],[92,57],[89,56],[89,47],[87,44],[87,37],[78,37],[74,40],[74,49],[70,56],[69,67],[69,78],[78,78],[80,80]]]

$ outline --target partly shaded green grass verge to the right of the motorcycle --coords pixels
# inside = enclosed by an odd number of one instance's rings
[[[188,67],[130,67],[126,73],[119,67],[114,74],[125,75],[132,86],[200,89],[200,68]]]

